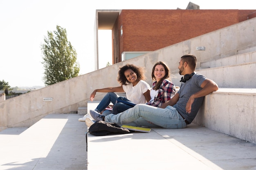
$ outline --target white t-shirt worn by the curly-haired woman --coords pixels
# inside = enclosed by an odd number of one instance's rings
[[[146,91],[150,90],[150,85],[146,81],[140,80],[135,86],[132,83],[122,86],[126,92],[126,98],[135,104],[146,103],[147,100],[143,95]]]

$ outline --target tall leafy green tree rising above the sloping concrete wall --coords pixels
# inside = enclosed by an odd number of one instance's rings
[[[43,81],[45,85],[52,85],[79,74],[80,66],[76,62],[76,50],[67,41],[65,28],[56,26],[57,31],[47,31],[44,44],[41,45],[45,72]]]

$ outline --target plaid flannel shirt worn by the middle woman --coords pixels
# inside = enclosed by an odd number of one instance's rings
[[[156,81],[152,84],[152,89],[156,85]],[[170,100],[175,94],[175,85],[171,81],[164,79],[158,89],[158,94],[155,95],[155,99],[147,102],[147,105],[161,107],[164,102]]]

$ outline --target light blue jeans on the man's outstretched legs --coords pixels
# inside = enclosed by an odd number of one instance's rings
[[[166,129],[182,129],[186,122],[178,111],[171,106],[165,109],[145,104],[138,104],[117,115],[105,116],[106,122],[126,124],[131,126],[163,127]]]

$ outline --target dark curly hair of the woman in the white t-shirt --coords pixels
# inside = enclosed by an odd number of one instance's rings
[[[121,85],[126,85],[127,83],[130,83],[126,76],[124,75],[124,72],[128,69],[131,69],[132,71],[134,71],[137,74],[137,80],[145,80],[146,77],[144,75],[144,68],[142,67],[138,67],[136,65],[133,64],[126,64],[123,67],[120,68],[119,72],[118,72],[118,77],[117,77],[117,81],[121,84]]]

